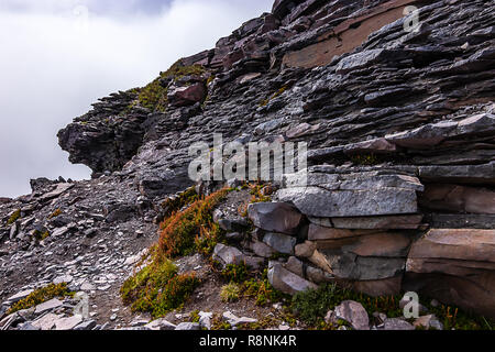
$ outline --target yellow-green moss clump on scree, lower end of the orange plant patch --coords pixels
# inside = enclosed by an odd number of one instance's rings
[[[133,311],[150,312],[158,318],[183,307],[198,285],[194,273],[178,275],[172,261],[156,258],[125,280],[120,293]]]

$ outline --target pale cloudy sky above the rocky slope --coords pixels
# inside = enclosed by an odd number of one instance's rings
[[[273,0],[0,0],[0,197],[82,179],[56,139],[98,98],[144,86]]]

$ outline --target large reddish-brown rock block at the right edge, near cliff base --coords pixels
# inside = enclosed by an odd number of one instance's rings
[[[406,289],[495,317],[495,230],[430,230],[413,245],[406,271]]]

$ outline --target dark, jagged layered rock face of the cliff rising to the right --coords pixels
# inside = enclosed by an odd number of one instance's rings
[[[150,200],[193,184],[188,148],[213,133],[308,142],[307,183],[286,175],[273,205],[249,211],[261,231],[251,249],[289,256],[270,265],[277,288],[417,290],[495,317],[494,12],[493,1],[277,0],[178,63],[198,73],[161,76],[152,107],[145,89],[113,95],[59,142]]]

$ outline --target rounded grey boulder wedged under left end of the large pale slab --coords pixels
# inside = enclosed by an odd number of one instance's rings
[[[286,234],[296,234],[302,220],[296,208],[284,202],[250,205],[248,215],[256,228]]]

